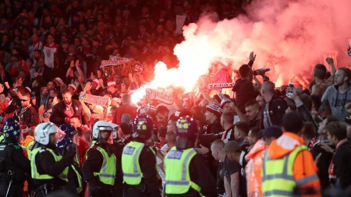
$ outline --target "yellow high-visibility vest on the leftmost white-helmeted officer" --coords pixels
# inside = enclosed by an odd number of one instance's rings
[[[33,179],[53,179],[54,177],[49,175],[49,174],[40,174],[37,170],[37,165],[35,163],[35,157],[37,155],[38,152],[43,152],[43,151],[49,151],[55,161],[60,161],[62,159],[62,156],[59,154],[56,154],[52,149],[50,148],[46,148],[43,149],[42,147],[36,148],[32,151],[32,158],[31,158],[31,172],[32,172],[32,178]],[[67,179],[67,174],[68,174],[68,167],[66,167],[59,175],[58,178],[61,178],[62,180],[68,182]]]

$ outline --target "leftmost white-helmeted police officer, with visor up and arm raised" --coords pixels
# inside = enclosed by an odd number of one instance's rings
[[[35,128],[35,140],[31,156],[32,178],[36,186],[34,196],[64,189],[68,182],[68,166],[73,163],[76,147],[67,146],[67,153],[61,156],[56,147],[55,124],[45,122]]]

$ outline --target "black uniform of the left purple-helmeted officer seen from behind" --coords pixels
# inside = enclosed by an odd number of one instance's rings
[[[139,165],[143,177],[138,185],[126,185],[123,197],[160,197],[161,191],[157,180],[156,157],[149,146],[144,146],[140,152]]]

